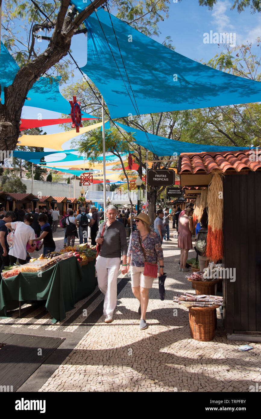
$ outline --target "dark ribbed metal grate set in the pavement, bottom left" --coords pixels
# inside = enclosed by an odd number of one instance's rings
[[[0,332],[0,392],[18,390],[64,340]]]

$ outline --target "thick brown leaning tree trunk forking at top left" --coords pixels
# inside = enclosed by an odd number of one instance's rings
[[[13,83],[4,87],[5,103],[0,103],[0,150],[12,151],[15,149],[20,134],[20,120],[24,102],[28,91],[36,80],[49,70],[54,64],[67,55],[74,30],[97,8],[104,0],[93,0],[73,21],[66,16],[70,0],[62,0],[57,15],[52,38],[47,49],[21,67]],[[46,54],[46,55],[44,55]],[[68,103],[68,112],[70,104]]]

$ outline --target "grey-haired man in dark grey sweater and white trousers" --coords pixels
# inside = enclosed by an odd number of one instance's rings
[[[96,237],[96,243],[101,248],[100,254],[96,260],[96,271],[98,276],[98,286],[105,295],[103,304],[103,314],[105,323],[111,323],[113,312],[117,304],[117,277],[121,264],[121,273],[127,273],[127,239],[125,228],[121,222],[116,221],[117,209],[113,205],[109,205],[105,209],[107,222],[105,222],[105,230],[103,236],[104,222],[99,226]]]

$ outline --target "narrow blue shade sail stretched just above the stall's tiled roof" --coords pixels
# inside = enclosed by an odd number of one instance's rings
[[[201,153],[202,151],[238,151],[238,150],[250,150],[254,147],[230,147],[222,145],[205,145],[195,144],[191,142],[171,140],[159,135],[149,134],[148,132],[140,131],[133,127],[127,127],[127,125],[119,124],[119,127],[125,131],[132,133],[132,137],[136,140],[137,144],[147,148],[158,156],[174,155],[177,153]]]

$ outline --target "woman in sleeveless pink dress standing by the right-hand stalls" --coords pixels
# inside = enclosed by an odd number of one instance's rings
[[[189,249],[192,249],[192,240],[191,233],[197,223],[193,225],[192,218],[194,209],[191,207],[186,208],[185,214],[181,215],[178,220],[178,247],[181,248],[180,256],[180,268],[182,272],[188,272],[189,269],[186,268],[186,262],[188,259]]]

